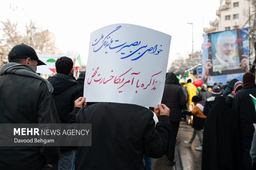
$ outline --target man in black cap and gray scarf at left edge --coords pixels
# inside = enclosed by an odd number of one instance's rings
[[[36,74],[36,51],[26,44],[12,48],[0,70],[0,123],[59,123],[52,85]],[[0,169],[57,168],[59,147],[0,147]]]

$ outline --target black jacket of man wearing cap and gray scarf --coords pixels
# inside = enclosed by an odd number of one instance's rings
[[[52,95],[42,80],[4,74],[0,93],[0,123],[59,123]],[[40,170],[58,161],[59,147],[0,147],[1,170]]]

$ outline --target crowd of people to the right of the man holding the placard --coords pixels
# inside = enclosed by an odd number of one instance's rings
[[[191,79],[187,84],[179,84],[173,73],[167,74],[162,103],[171,109],[170,123],[175,127],[179,126],[182,115],[190,116],[186,121],[194,131],[191,139],[184,142],[191,147],[198,136],[200,145],[195,149],[202,151],[202,170],[251,170],[255,166],[256,149],[252,142],[253,135],[256,136],[256,110],[250,95],[256,96],[255,77],[250,72],[244,74],[242,82],[232,79],[225,86],[202,84],[201,88],[196,88]],[[175,164],[174,157],[169,156],[174,155],[173,139],[178,133],[178,128],[173,129],[167,165]]]

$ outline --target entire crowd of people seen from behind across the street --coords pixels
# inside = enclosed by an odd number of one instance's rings
[[[151,170],[151,158],[164,155],[167,165],[175,165],[184,118],[194,129],[185,145],[191,147],[198,136],[195,149],[202,151],[202,170],[255,166],[256,107],[251,96],[256,97],[256,84],[250,72],[243,81],[201,88],[192,79],[180,84],[175,74],[167,73],[154,113],[139,105],[86,102],[85,74],[74,79],[68,57],[56,61],[57,74],[47,80],[36,73],[45,63],[26,44],[13,47],[8,61],[0,69],[0,123],[91,123],[93,133],[91,147],[0,147],[0,169]]]

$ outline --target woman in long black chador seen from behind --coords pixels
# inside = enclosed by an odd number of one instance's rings
[[[204,123],[202,170],[241,170],[240,149],[234,112],[217,96]]]

